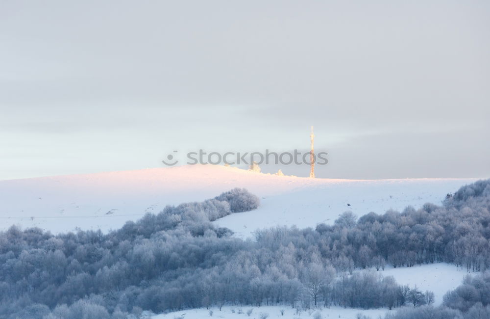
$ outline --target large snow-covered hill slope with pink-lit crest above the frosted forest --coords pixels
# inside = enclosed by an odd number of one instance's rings
[[[248,237],[257,228],[333,222],[346,210],[362,215],[439,203],[447,192],[473,181],[309,179],[212,165],[0,181],[0,229],[18,224],[54,233],[76,227],[107,231],[168,204],[201,201],[245,187],[261,198],[261,207],[217,223]]]

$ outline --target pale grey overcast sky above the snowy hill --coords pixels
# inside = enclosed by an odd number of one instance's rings
[[[2,0],[0,179],[305,149],[311,125],[320,177],[488,178],[489,17],[487,0]]]

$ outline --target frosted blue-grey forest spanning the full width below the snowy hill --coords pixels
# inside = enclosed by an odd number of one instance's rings
[[[137,319],[146,310],[223,305],[409,305],[386,318],[490,318],[490,180],[447,194],[441,206],[359,218],[339,212],[332,225],[260,230],[254,240],[212,223],[258,206],[256,196],[236,188],[148,213],[107,234],[12,226],[0,233],[0,314]],[[436,262],[469,274],[440,307],[432,306],[433,292],[376,271]]]

